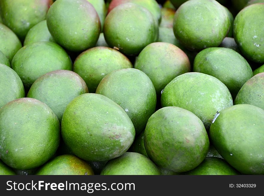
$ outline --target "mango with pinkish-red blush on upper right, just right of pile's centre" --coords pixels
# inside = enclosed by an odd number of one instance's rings
[[[188,56],[177,46],[155,42],[147,45],[137,57],[136,69],[143,71],[151,79],[157,95],[175,77],[190,72]]]

